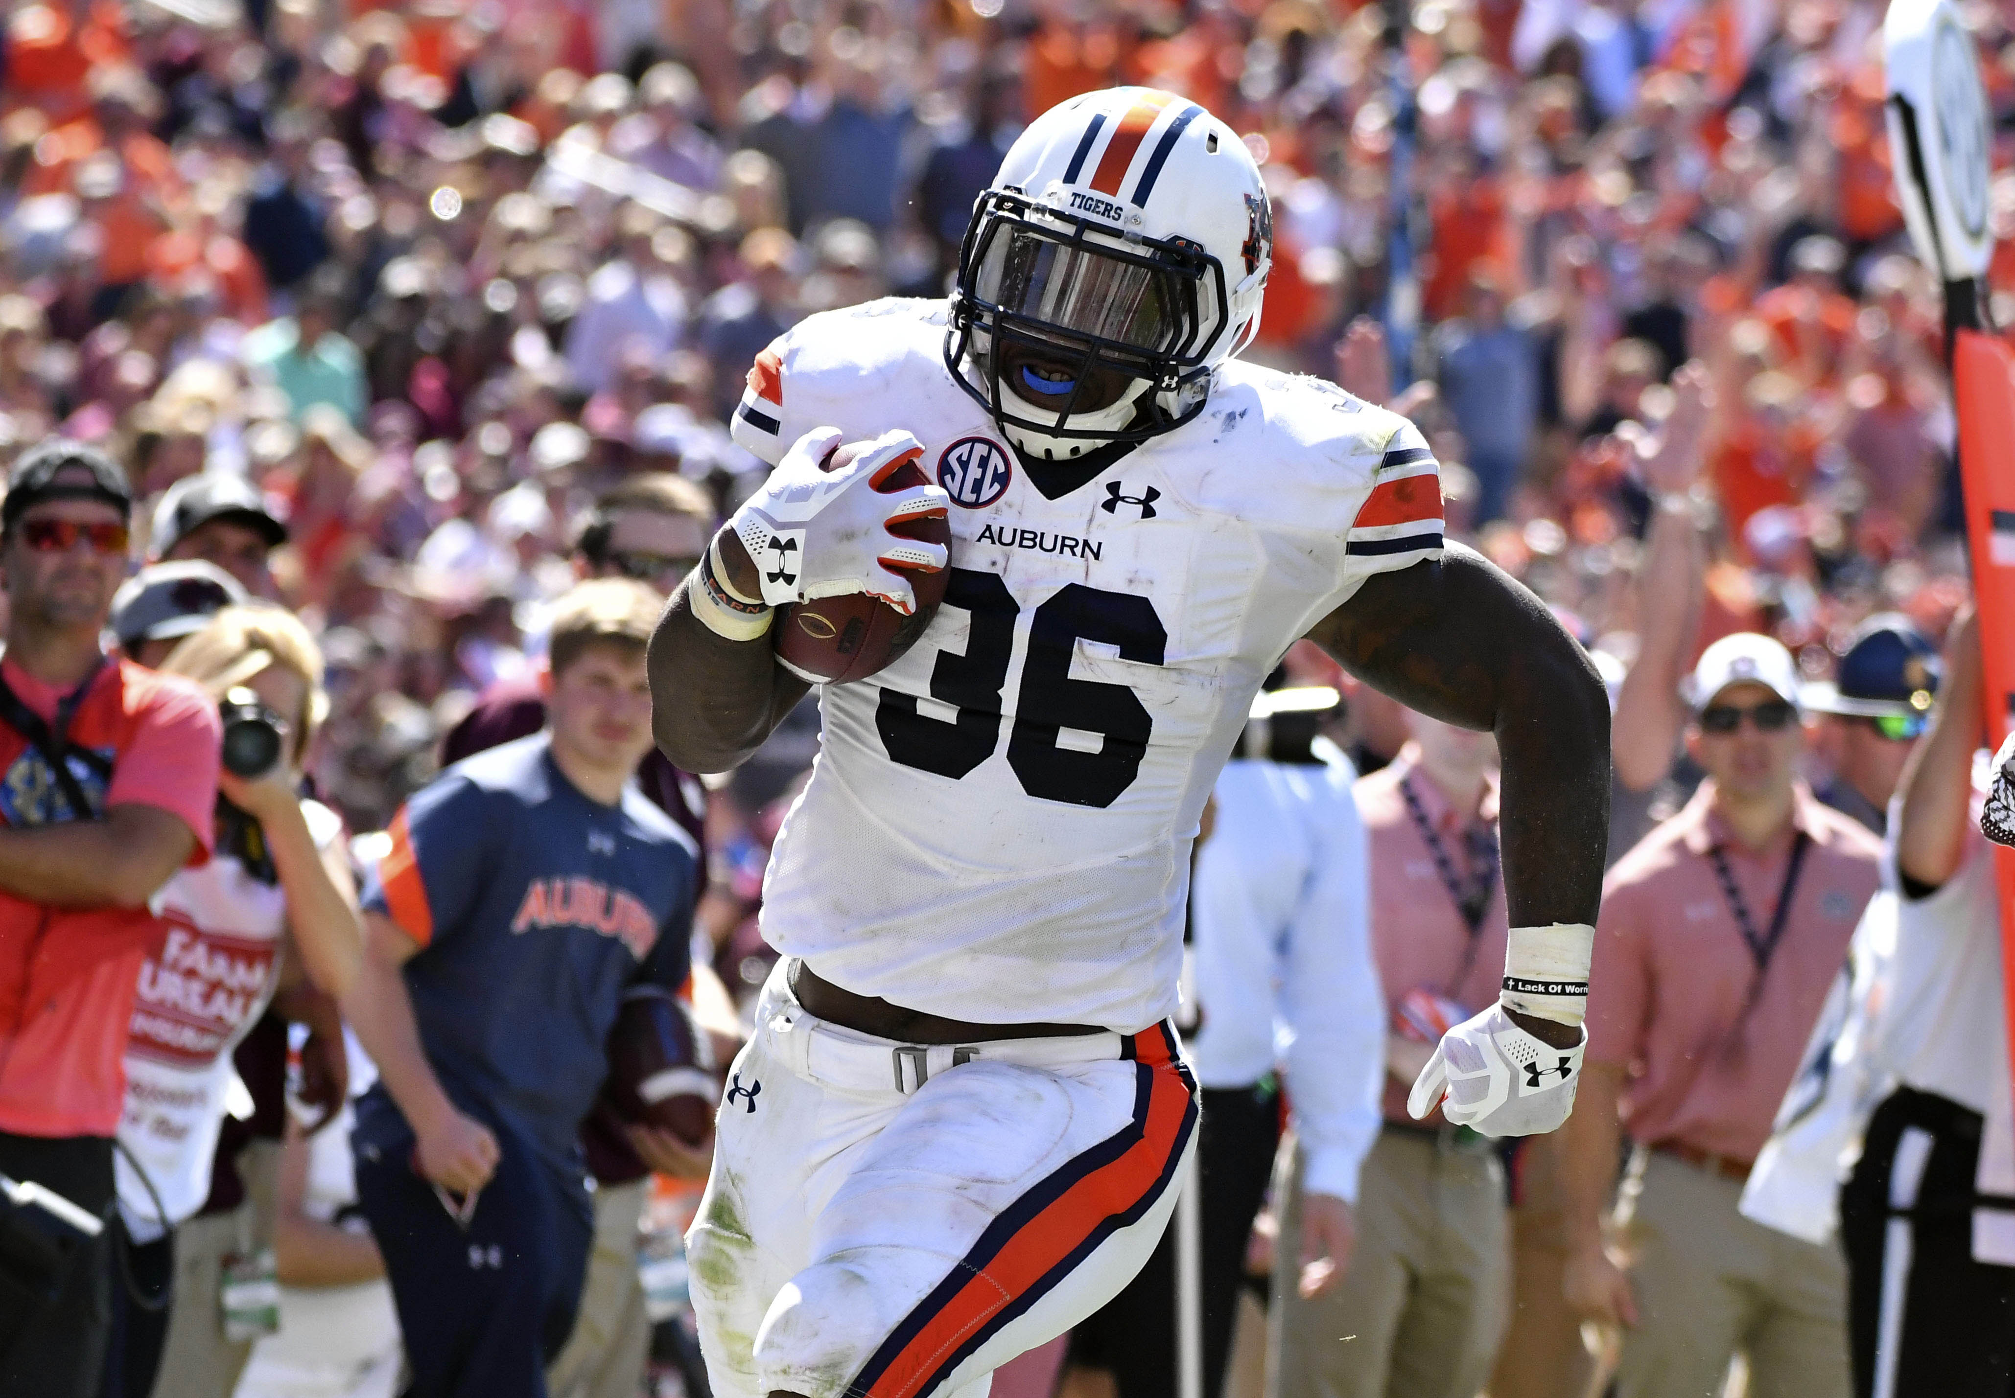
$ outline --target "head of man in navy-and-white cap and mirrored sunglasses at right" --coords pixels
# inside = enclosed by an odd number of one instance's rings
[[[1900,612],[1870,616],[1840,657],[1840,673],[1805,685],[1805,713],[1828,715],[1818,739],[1834,776],[1814,796],[1876,834],[1888,834],[1888,804],[1902,763],[1938,697],[1938,649]]]

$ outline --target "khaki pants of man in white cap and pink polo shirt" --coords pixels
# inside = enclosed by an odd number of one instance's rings
[[[1737,1213],[1743,1186],[1638,1152],[1616,1217],[1632,1255],[1638,1325],[1624,1334],[1618,1398],[1717,1398],[1749,1356],[1749,1398],[1846,1398],[1848,1267]],[[1926,1396],[1928,1398],[1928,1396]]]

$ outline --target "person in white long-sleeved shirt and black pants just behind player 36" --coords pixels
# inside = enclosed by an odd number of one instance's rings
[[[1330,1289],[1350,1261],[1358,1166],[1378,1134],[1384,997],[1372,961],[1356,770],[1326,737],[1334,689],[1253,703],[1213,794],[1189,917],[1203,1088],[1203,1394],[1223,1386],[1245,1245],[1280,1142],[1286,1066],[1306,1160],[1296,1247],[1302,1285]],[[1072,1336],[1074,1364],[1112,1370],[1118,1398],[1177,1392],[1175,1227],[1138,1277]]]

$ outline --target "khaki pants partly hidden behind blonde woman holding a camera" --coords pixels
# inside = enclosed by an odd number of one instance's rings
[[[153,1398],[230,1398],[252,1358],[250,1340],[224,1338],[224,1263],[272,1247],[280,1142],[254,1140],[240,1150],[238,1178],[242,1205],[175,1227],[175,1303]]]

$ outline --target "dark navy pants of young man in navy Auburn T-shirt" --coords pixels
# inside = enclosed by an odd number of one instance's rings
[[[385,1255],[413,1370],[407,1398],[546,1398],[546,1364],[574,1327],[594,1215],[516,1132],[467,1229],[413,1172],[413,1132],[373,1090],[357,1104],[357,1203]]]

